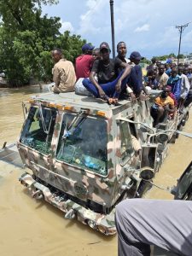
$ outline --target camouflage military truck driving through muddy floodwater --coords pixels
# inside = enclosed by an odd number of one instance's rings
[[[33,96],[17,143],[32,175],[23,173],[20,183],[65,218],[113,235],[115,206],[142,194],[141,182],[159,170],[168,141],[187,117],[176,113],[153,128],[152,102],[153,96],[109,106],[73,92]]]

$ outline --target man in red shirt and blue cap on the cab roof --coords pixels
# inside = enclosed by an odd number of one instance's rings
[[[82,47],[83,55],[77,57],[75,61],[75,72],[77,80],[80,78],[89,78],[90,70],[93,66],[94,58],[92,56],[92,51],[94,46],[90,44],[84,44]]]

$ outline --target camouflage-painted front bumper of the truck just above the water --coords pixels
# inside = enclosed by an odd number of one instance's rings
[[[93,212],[90,209],[82,207],[76,202],[65,199],[65,196],[51,192],[47,186],[37,182],[32,175],[27,172],[23,173],[19,180],[20,183],[30,191],[33,198],[39,200],[44,199],[49,202],[49,204],[57,207],[62,212],[65,212],[65,218],[77,218],[83,224],[88,224],[91,229],[98,230],[106,236],[114,235],[116,233],[114,224],[114,208],[112,212],[107,215]]]

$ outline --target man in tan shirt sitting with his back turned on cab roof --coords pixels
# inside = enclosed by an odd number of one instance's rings
[[[53,68],[54,93],[68,92],[74,90],[76,75],[71,61],[63,58],[61,49],[53,49],[52,58],[55,61]]]

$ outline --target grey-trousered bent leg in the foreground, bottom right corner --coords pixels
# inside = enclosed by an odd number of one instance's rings
[[[130,199],[116,207],[119,256],[149,256],[150,245],[192,255],[191,201]]]

